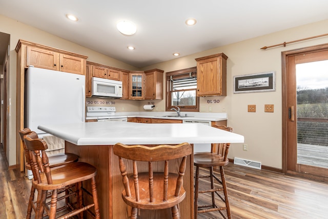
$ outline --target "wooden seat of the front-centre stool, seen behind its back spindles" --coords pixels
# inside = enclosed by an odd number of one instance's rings
[[[162,209],[163,205],[166,208],[171,208],[180,202],[186,197],[186,191],[183,187],[180,189],[180,193],[178,196],[175,196],[175,189],[176,189],[176,181],[178,178],[178,174],[169,173],[168,178],[168,197],[167,201],[164,202],[163,197],[163,175],[164,173],[154,173],[153,180],[154,180],[154,191],[153,193],[156,194],[154,197],[153,202],[149,202],[149,174],[147,173],[139,173],[139,201],[136,201],[135,190],[131,190],[131,195],[127,196],[126,191],[122,192],[123,200],[130,206],[139,208],[142,205],[142,209],[148,210],[155,210],[155,209]],[[134,179],[133,176],[129,178],[129,186],[130,188],[134,187]]]

